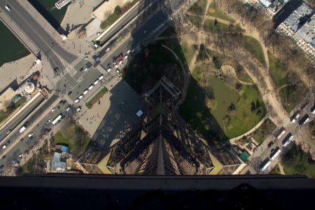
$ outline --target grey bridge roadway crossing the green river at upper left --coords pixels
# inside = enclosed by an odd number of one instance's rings
[[[41,50],[45,53],[53,48],[53,50],[61,56],[66,62],[73,62],[76,59],[76,55],[72,55],[71,53],[64,50],[60,45],[58,45],[52,36],[48,34],[41,25],[23,8],[18,1],[15,0],[6,0],[6,3],[12,6],[10,13],[12,14],[12,18],[15,22],[20,24],[19,26],[23,29],[23,31],[27,31],[27,35],[31,38],[34,43],[38,43],[41,47]],[[30,29],[33,33],[29,33]],[[40,35],[38,35],[40,34]],[[57,34],[59,36],[59,34]]]

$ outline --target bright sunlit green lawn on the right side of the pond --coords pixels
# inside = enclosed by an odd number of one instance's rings
[[[251,102],[260,103],[260,113],[251,111]],[[266,114],[265,104],[262,102],[260,93],[255,85],[243,85],[239,101],[236,104],[235,115],[229,114],[230,122],[224,122],[225,135],[228,138],[238,137],[251,130]]]

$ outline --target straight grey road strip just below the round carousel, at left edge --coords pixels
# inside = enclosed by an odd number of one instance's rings
[[[10,121],[10,123],[8,123],[8,125],[6,125],[6,127],[3,127],[3,129],[0,132],[0,139],[4,139],[8,134],[8,130],[13,131],[15,129],[15,127],[17,127],[22,120],[24,120],[25,118],[27,118],[27,116],[29,115],[29,113],[31,113],[31,111],[34,111],[34,109],[36,109],[36,107],[41,104],[41,102],[43,102],[45,100],[45,97],[43,97],[43,95],[41,94],[37,99],[34,100],[34,102],[32,102],[31,104],[29,104],[29,106],[25,107],[25,109],[22,110],[22,112],[20,113],[20,115],[16,116],[16,118],[12,121]],[[21,125],[22,127],[22,125]],[[19,131],[14,131],[14,132],[19,132]],[[2,144],[2,142],[1,142]]]

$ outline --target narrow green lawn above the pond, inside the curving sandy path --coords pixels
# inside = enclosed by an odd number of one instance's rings
[[[264,52],[259,41],[251,36],[241,36],[241,45],[251,52],[251,55],[257,58],[263,66],[266,66]]]

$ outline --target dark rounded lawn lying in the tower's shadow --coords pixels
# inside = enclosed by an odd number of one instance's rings
[[[181,46],[174,48],[180,49]],[[123,71],[123,78],[139,94],[144,92],[146,87],[153,87],[163,75],[172,80],[177,87],[183,86],[181,65],[172,52],[161,45],[149,45],[146,50],[138,53]]]

